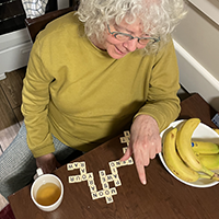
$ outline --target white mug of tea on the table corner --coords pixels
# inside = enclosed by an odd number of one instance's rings
[[[64,185],[53,174],[44,174],[42,169],[36,170],[34,183],[31,187],[31,197],[34,204],[44,211],[53,211],[59,207],[64,198]]]

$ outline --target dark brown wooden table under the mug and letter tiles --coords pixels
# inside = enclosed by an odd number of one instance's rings
[[[203,123],[216,128],[210,122],[216,112],[198,95],[182,102],[180,118],[199,117]],[[93,173],[97,191],[102,189],[99,171],[110,175],[108,162],[119,160],[124,143],[119,137],[103,143],[91,152],[76,159],[84,161],[87,172]],[[146,169],[148,184],[139,182],[135,164],[117,169],[122,185],[116,187],[113,203],[92,199],[88,182],[69,184],[68,176],[78,175],[79,170],[67,171],[64,165],[55,174],[64,182],[65,197],[60,207],[53,212],[41,211],[30,196],[26,186],[9,197],[16,219],[218,219],[219,186],[195,188],[175,180],[161,164],[159,157]],[[110,182],[110,187],[115,187]]]

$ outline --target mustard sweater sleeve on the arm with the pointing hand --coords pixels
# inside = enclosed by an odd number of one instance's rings
[[[150,115],[157,120],[162,131],[180,114],[178,89],[178,67],[171,41],[155,55],[148,99],[135,117],[141,114]]]

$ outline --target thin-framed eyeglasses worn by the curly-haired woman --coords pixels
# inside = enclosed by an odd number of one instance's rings
[[[160,41],[160,37],[159,38],[154,38],[154,37],[134,37],[131,36],[130,34],[125,34],[125,33],[120,33],[120,32],[111,32],[111,28],[110,28],[110,25],[107,24],[107,28],[108,28],[108,32],[110,34],[112,34],[115,38],[117,38],[118,41],[131,41],[134,38],[138,38],[138,43],[141,44],[141,45],[146,45],[148,43],[157,43]]]

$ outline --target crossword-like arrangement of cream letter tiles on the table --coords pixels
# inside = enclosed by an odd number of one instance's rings
[[[128,146],[129,140],[130,140],[129,131],[124,131],[124,137],[120,137],[120,142],[127,143],[127,146]],[[124,153],[126,152],[126,150],[127,150],[127,147],[123,148]],[[97,191],[97,188],[96,188],[93,173],[87,172],[84,161],[67,164],[68,171],[72,171],[76,169],[80,170],[79,175],[71,175],[71,176],[69,176],[68,180],[69,180],[69,183],[80,183],[83,181],[88,181],[88,186],[90,187],[92,199],[95,200],[97,198],[105,198],[106,203],[110,204],[110,203],[113,203],[113,196],[117,195],[116,187],[122,185],[117,169],[120,166],[131,165],[131,164],[134,164],[131,157],[126,161],[116,160],[116,161],[108,162],[108,165],[111,169],[111,174],[106,174],[105,170],[99,171],[99,175],[100,175],[100,180],[101,180],[101,184],[102,184],[102,188],[103,188],[101,191]],[[110,187],[110,184],[108,184],[110,182],[114,182],[115,187]]]

